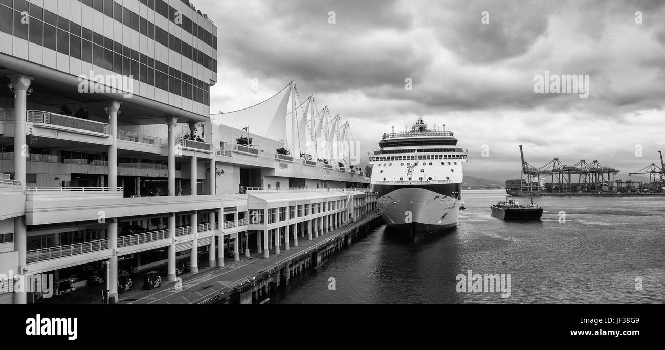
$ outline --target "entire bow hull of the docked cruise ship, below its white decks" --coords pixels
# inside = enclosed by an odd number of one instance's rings
[[[375,185],[380,203],[386,209],[382,218],[386,225],[410,234],[438,232],[455,228],[458,222],[461,184],[420,186]],[[448,195],[447,195],[448,194]]]

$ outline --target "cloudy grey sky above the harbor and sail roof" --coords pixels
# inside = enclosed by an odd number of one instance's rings
[[[218,27],[211,112],[295,79],[348,120],[362,154],[422,115],[469,149],[465,174],[495,180],[519,178],[519,144],[536,167],[599,160],[622,178],[665,151],[665,1],[195,4]],[[588,75],[589,96],[534,92],[545,71]]]

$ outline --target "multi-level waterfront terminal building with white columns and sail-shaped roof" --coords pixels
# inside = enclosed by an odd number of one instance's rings
[[[0,303],[93,270],[117,301],[126,271],[269,259],[376,209],[350,147],[319,152],[348,123],[294,82],[210,114],[216,36],[182,0],[0,0]]]

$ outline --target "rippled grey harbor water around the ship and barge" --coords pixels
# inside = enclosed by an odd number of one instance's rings
[[[539,197],[539,222],[493,218],[503,190],[463,198],[456,230],[414,242],[380,226],[270,302],[665,303],[665,198]],[[469,270],[509,276],[509,296],[460,290]]]

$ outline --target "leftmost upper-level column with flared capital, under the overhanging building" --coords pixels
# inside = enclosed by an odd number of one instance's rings
[[[32,80],[25,75],[9,75],[14,89],[14,180],[20,181],[22,186],[25,186],[25,158],[28,156],[28,146],[25,144],[26,91]]]

